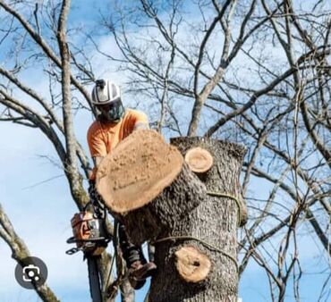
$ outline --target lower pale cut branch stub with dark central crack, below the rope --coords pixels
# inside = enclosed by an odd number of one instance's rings
[[[181,247],[175,253],[176,269],[182,280],[191,283],[204,281],[210,271],[210,260],[197,247]]]

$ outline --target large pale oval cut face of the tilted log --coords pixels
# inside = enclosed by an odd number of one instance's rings
[[[181,172],[182,164],[181,153],[156,131],[136,130],[99,165],[98,193],[111,211],[132,211],[168,187]]]

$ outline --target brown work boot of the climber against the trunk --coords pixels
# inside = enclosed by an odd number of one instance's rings
[[[157,271],[157,265],[153,262],[141,264],[140,261],[135,261],[129,268],[129,281],[133,289],[141,289],[146,278],[151,277]]]

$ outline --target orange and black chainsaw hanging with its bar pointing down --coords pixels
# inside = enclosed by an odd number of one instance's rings
[[[72,247],[65,253],[73,255],[79,251],[83,252],[89,267],[89,289],[92,301],[101,302],[98,260],[111,240],[106,231],[106,209],[91,196],[87,206],[80,213],[73,215],[71,223],[73,236],[67,239],[67,243],[75,243],[76,247]]]

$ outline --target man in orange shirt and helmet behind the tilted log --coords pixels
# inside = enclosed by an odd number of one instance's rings
[[[121,90],[110,80],[97,80],[92,90],[92,103],[95,105],[97,120],[88,130],[89,152],[94,162],[94,169],[89,178],[89,191],[94,191],[91,196],[97,196],[98,201],[102,202],[95,190],[98,165],[123,138],[135,130],[148,129],[149,122],[146,114],[123,107]],[[129,280],[134,289],[140,289],[146,278],[156,271],[157,266],[152,262],[148,263],[141,248],[128,240],[121,223],[119,240],[123,258],[129,269]]]

